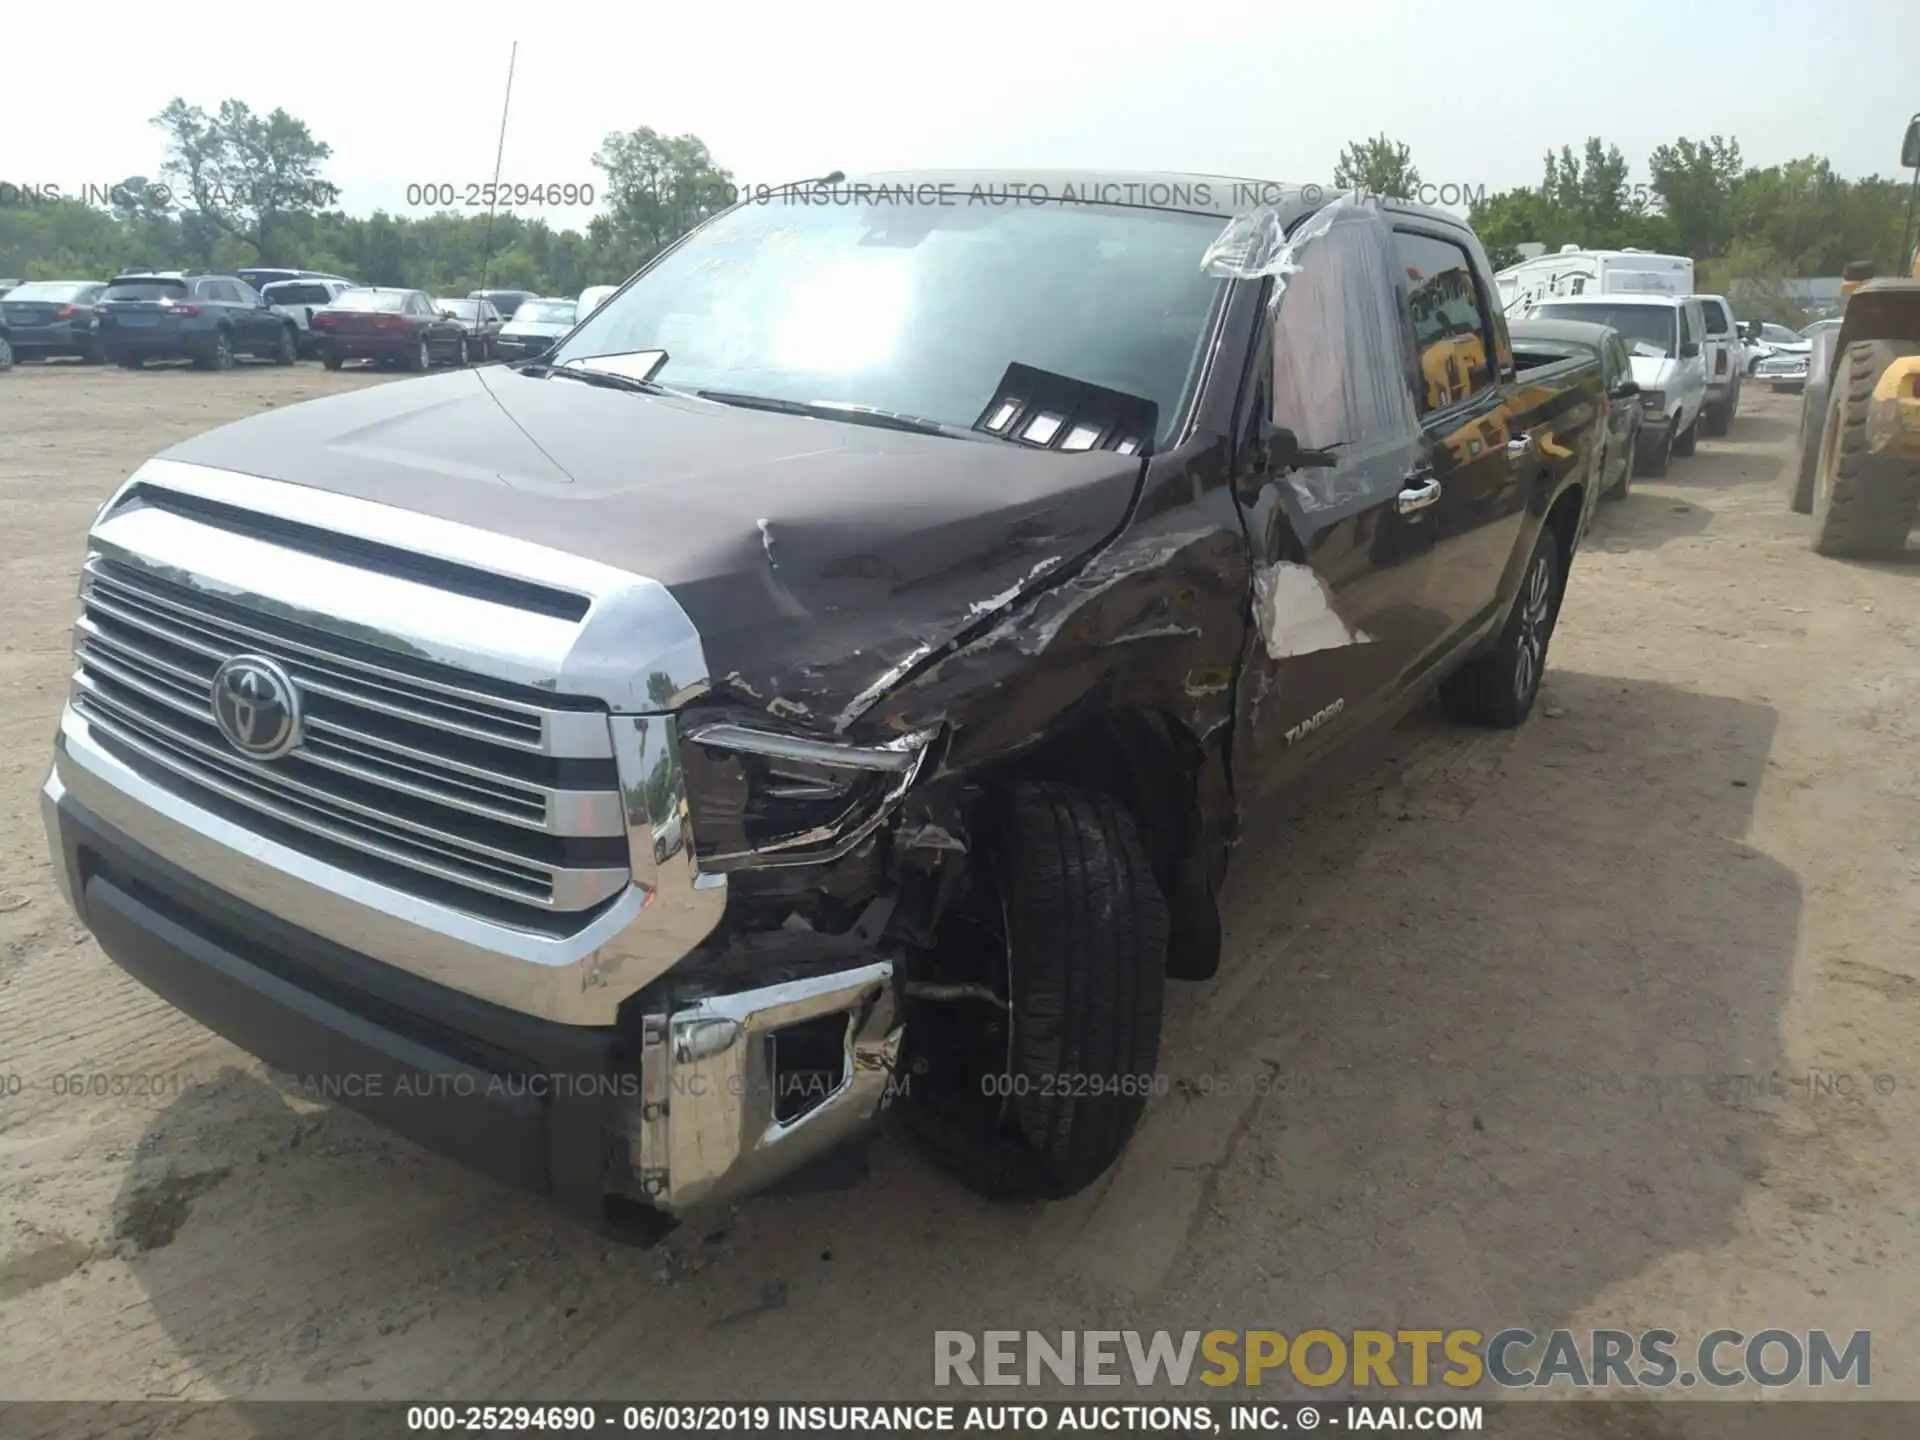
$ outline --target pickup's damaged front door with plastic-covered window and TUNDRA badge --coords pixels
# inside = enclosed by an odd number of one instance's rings
[[[1283,426],[1331,463],[1267,467],[1260,444],[1240,459],[1254,624],[1233,745],[1236,783],[1256,793],[1388,708],[1440,636],[1427,605],[1432,476],[1392,234],[1350,209],[1298,265],[1267,307],[1240,432]]]

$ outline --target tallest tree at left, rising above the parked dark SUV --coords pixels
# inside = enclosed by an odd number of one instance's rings
[[[261,261],[284,261],[290,217],[315,213],[326,198],[321,165],[332,146],[284,109],[255,115],[240,100],[207,115],[175,98],[154,125],[167,136],[161,173],[186,186],[194,209]]]

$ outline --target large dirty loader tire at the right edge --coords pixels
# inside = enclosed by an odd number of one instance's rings
[[[1920,465],[1866,453],[1866,407],[1882,371],[1920,344],[1857,340],[1834,371],[1812,486],[1816,555],[1884,559],[1907,549],[1920,511]]]

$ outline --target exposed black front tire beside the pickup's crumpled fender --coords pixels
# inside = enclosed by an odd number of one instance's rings
[[[1167,902],[1110,795],[1010,785],[983,839],[1008,929],[1004,1071],[981,1075],[966,1106],[916,1098],[908,1125],[968,1188],[1058,1200],[1119,1158],[1154,1089]]]

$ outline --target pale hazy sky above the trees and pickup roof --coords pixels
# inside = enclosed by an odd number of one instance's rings
[[[71,192],[157,173],[148,119],[167,100],[236,96],[332,144],[348,209],[407,209],[409,182],[490,179],[515,38],[501,179],[520,184],[597,184],[595,146],[636,125],[699,134],[743,182],[975,165],[1325,180],[1342,142],[1377,131],[1425,179],[1488,190],[1536,182],[1548,148],[1588,134],[1620,146],[1632,180],[1678,134],[1736,136],[1749,163],[1820,152],[1843,175],[1891,175],[1920,109],[1910,0],[420,0],[290,25],[242,8],[136,25],[125,44],[115,29],[73,63],[12,67],[0,180]]]

